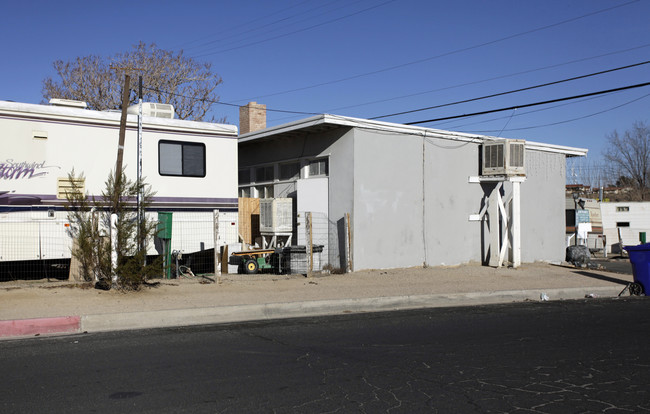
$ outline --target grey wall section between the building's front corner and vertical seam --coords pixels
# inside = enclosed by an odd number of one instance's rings
[[[354,270],[422,266],[422,137],[354,132]]]

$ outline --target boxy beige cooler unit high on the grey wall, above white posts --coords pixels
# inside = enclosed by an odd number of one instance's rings
[[[488,141],[482,148],[481,175],[526,175],[526,141]]]

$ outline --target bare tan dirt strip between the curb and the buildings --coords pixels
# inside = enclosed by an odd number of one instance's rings
[[[215,277],[216,279],[217,277]],[[92,284],[21,281],[0,283],[0,320],[203,308],[228,305],[428,295],[438,293],[599,287],[632,281],[631,275],[547,263],[517,269],[478,264],[368,270],[338,275],[224,274],[205,279],[157,280],[137,292],[102,291]]]

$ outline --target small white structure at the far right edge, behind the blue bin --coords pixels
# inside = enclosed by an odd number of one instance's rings
[[[629,211],[617,211],[618,207],[628,207]],[[607,250],[618,243],[616,223],[630,223],[629,227],[620,227],[623,246],[639,244],[639,233],[646,233],[646,242],[650,242],[650,202],[620,201],[600,203],[600,213],[603,220],[603,234],[607,238]]]

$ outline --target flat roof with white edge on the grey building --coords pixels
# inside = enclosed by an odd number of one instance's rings
[[[374,121],[370,119],[352,118],[340,115],[321,114],[286,124],[249,132],[239,136],[239,142],[267,140],[278,136],[291,136],[305,132],[322,132],[339,127],[362,128],[382,132],[393,132],[408,135],[419,135],[428,138],[441,138],[453,141],[475,142],[501,141],[506,138],[488,135],[467,134],[464,132],[445,131],[442,129],[425,128],[414,125],[396,124],[391,122]],[[567,147],[563,145],[546,144],[526,141],[526,148],[534,151],[554,152],[569,157],[584,157],[589,151],[586,148]]]

